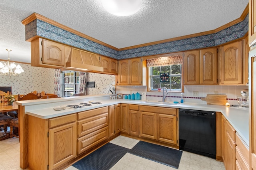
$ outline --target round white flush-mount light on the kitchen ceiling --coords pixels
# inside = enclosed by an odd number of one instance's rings
[[[102,0],[107,12],[116,16],[130,16],[138,12],[142,0]]]

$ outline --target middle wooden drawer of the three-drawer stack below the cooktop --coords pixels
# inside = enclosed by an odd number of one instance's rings
[[[87,135],[105,126],[108,126],[108,113],[102,113],[80,120],[78,121],[78,137]]]

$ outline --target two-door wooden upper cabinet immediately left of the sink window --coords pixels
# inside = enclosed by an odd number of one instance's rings
[[[142,84],[142,59],[126,59],[119,61],[118,85]]]

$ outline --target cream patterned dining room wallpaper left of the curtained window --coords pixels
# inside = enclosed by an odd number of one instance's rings
[[[16,76],[1,76],[0,86],[11,86],[12,94],[27,94],[34,90],[54,92],[54,69],[21,64],[24,72]]]

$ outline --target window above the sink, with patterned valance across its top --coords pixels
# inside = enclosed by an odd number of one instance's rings
[[[182,92],[182,56],[147,59],[148,86],[150,91],[158,91],[164,86],[171,92]],[[160,73],[168,73],[169,81],[160,81]]]

